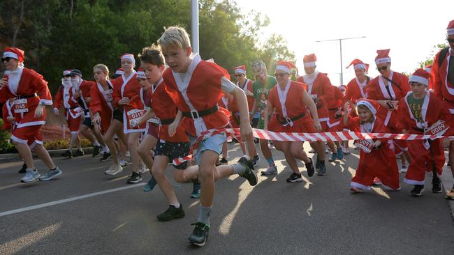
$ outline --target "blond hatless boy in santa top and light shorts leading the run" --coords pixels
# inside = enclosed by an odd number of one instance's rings
[[[249,141],[252,128],[249,123],[247,98],[241,88],[230,82],[228,72],[224,68],[203,61],[198,54],[191,54],[189,35],[184,29],[177,26],[169,27],[159,38],[158,43],[170,67],[163,74],[166,91],[180,111],[173,125],[177,126],[182,121],[191,141],[198,141],[198,150],[194,156],[200,167],[198,176],[202,185],[200,211],[195,229],[189,235],[189,242],[203,246],[210,229],[216,162],[222,144],[227,138],[223,129],[229,123],[228,116],[219,111],[217,102],[222,91],[235,96],[240,109],[241,137]],[[244,176],[251,185],[257,183],[257,176],[253,171],[254,164],[247,156],[241,157],[238,164],[222,167],[228,168],[230,173]]]

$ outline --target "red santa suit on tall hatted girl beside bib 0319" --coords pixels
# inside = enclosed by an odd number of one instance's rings
[[[120,106],[118,105],[118,101],[122,98],[131,98],[139,96],[140,91],[140,83],[137,79],[136,70],[133,70],[133,73],[129,75],[129,77],[125,77],[124,74],[117,79],[115,79],[114,83],[114,92],[113,92],[113,105],[118,109],[123,109],[123,131],[125,134],[131,132],[145,132],[145,124],[140,125],[138,128],[131,127],[131,120],[133,117],[138,115],[143,115],[144,109],[136,109],[131,105]],[[140,114],[142,113],[142,114]]]

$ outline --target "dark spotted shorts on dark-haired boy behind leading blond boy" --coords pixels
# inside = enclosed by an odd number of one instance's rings
[[[189,141],[182,143],[170,143],[168,141],[158,141],[156,144],[156,150],[154,156],[166,156],[169,158],[169,162],[172,163],[173,160],[178,157],[186,157],[189,155],[189,149],[191,148],[191,143]],[[188,167],[188,162],[185,161],[182,164],[175,165],[173,167],[176,169],[184,170]]]

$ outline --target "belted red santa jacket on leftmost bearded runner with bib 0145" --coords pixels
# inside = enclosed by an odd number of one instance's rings
[[[35,118],[35,109],[40,103],[52,105],[47,82],[43,76],[28,68],[6,72],[8,84],[0,90],[1,100],[17,98],[13,106],[13,114],[17,120],[17,127],[45,124],[45,109],[43,116]]]

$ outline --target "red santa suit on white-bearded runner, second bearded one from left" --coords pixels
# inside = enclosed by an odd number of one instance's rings
[[[71,84],[71,81],[66,81]],[[73,97],[76,88],[73,86],[60,86],[55,94],[54,109],[60,109],[63,106],[64,116],[68,123],[71,134],[78,134],[80,124],[84,117],[84,110],[80,107],[77,99]]]

